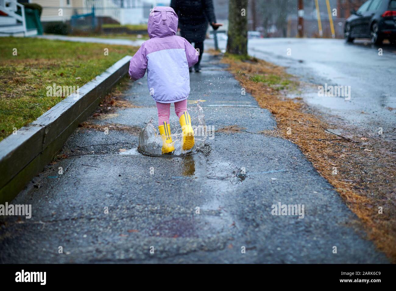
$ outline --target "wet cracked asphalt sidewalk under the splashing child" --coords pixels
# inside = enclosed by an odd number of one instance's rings
[[[276,126],[270,113],[240,94],[215,57],[203,61],[202,73],[191,74],[189,100],[206,100],[208,126],[240,132],[216,132],[189,156],[149,157],[133,150],[132,131],[76,129],[62,151],[69,158],[49,165],[14,200],[32,204],[32,218],[6,218],[0,262],[388,262],[297,146],[260,133]],[[142,128],[155,117],[147,80],[140,81],[126,94],[139,107],[95,123]],[[305,205],[304,218],[272,215],[278,203]]]

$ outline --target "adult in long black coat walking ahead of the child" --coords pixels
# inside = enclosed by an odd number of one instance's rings
[[[212,0],[171,0],[171,8],[179,17],[181,36],[190,43],[194,42],[195,48],[199,49],[198,63],[194,65],[195,71],[199,72],[208,23],[215,30],[222,26],[216,23],[213,2]]]

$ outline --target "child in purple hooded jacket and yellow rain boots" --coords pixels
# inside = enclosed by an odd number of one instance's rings
[[[175,147],[169,126],[170,103],[183,130],[182,148],[194,146],[194,132],[187,111],[190,93],[188,68],[198,62],[198,53],[184,38],[177,36],[178,18],[170,7],[154,7],[148,17],[145,41],[129,63],[129,76],[137,80],[145,75],[147,85],[158,110],[158,129],[162,137],[162,154],[171,154]]]

